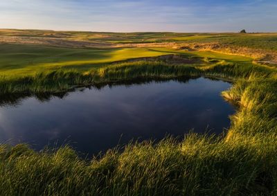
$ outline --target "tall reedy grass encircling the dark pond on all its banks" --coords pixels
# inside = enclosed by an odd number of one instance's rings
[[[130,143],[91,160],[68,146],[35,152],[23,144],[0,145],[1,194],[277,195],[276,69],[243,57],[201,54],[204,63],[196,65],[141,60],[2,76],[1,93],[36,94],[132,78],[204,75],[232,80],[222,96],[239,109],[222,136],[191,133],[181,142]]]

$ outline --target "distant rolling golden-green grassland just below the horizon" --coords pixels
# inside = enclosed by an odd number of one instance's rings
[[[25,40],[37,38],[45,40],[57,39],[60,42],[82,41],[106,44],[130,43],[207,43],[218,42],[248,48],[258,48],[277,51],[277,33],[98,33],[53,30],[14,30],[0,29],[0,41],[5,42],[9,37],[22,37]],[[9,39],[8,39],[9,40]]]

